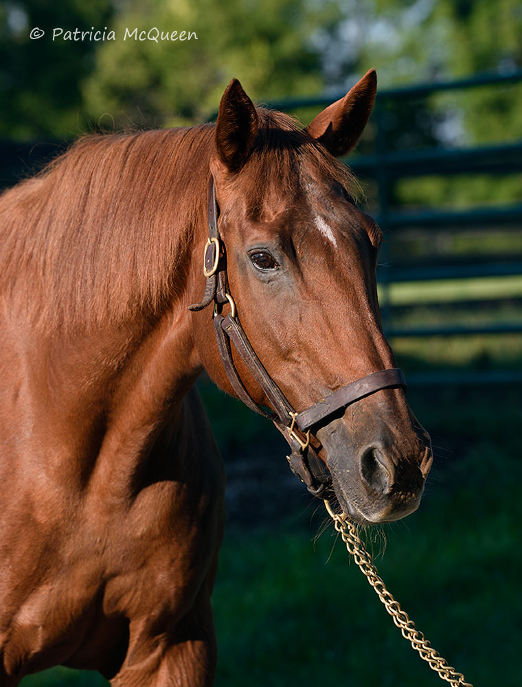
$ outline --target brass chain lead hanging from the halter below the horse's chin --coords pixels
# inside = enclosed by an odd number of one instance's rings
[[[435,671],[435,673],[438,673],[440,679],[449,682],[453,687],[473,687],[469,682],[466,682],[462,673],[457,673],[455,668],[452,668],[446,660],[433,649],[429,641],[424,637],[424,634],[416,629],[413,620],[410,620],[408,614],[402,610],[396,598],[388,592],[385,583],[378,575],[372,557],[367,552],[365,545],[357,534],[356,527],[348,521],[344,515],[334,513],[328,501],[325,501],[324,504],[348,552],[354,557],[354,561],[359,566],[363,575],[367,578],[367,581],[374,588],[378,598],[385,606],[385,609],[396,626],[400,629],[405,640],[408,640],[422,660],[427,661],[429,667]]]

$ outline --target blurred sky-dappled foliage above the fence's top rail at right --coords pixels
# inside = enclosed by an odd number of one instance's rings
[[[376,67],[385,85],[522,67],[518,0],[349,4],[344,23],[337,26],[337,48],[343,36],[354,36],[356,65]]]

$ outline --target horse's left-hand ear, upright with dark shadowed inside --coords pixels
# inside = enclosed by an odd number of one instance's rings
[[[238,172],[245,164],[256,133],[256,108],[240,82],[232,79],[221,98],[216,124],[216,150],[230,172]]]

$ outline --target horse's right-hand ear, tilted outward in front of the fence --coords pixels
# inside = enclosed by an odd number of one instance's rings
[[[374,106],[376,91],[377,74],[375,69],[370,69],[344,98],[319,113],[306,131],[335,157],[345,155],[354,148],[363,133]]]

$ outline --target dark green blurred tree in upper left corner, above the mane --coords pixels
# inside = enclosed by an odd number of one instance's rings
[[[0,137],[69,139],[83,131],[82,80],[92,72],[97,43],[52,41],[53,27],[104,27],[111,0],[8,0],[0,4]],[[32,41],[39,27],[45,38]]]

